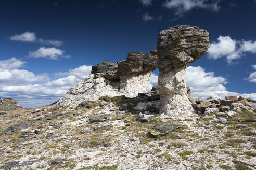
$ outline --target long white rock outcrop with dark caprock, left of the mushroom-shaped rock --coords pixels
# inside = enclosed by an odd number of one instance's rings
[[[105,60],[92,66],[92,74],[70,88],[56,105],[78,105],[84,101],[98,100],[105,95],[135,97],[138,93],[147,92],[150,75],[156,68],[156,50],[147,54],[131,52],[126,60],[116,63]]]

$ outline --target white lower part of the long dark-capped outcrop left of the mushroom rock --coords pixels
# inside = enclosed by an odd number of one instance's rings
[[[111,81],[105,77],[90,74],[84,81],[70,88],[60,98],[56,106],[76,106],[83,101],[96,101],[101,96],[135,97],[138,93],[146,93],[151,72],[120,76],[119,81]]]

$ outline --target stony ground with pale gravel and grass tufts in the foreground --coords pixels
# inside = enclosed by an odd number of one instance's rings
[[[0,167],[256,169],[255,109],[137,120],[125,102],[101,97],[75,108],[1,112]]]

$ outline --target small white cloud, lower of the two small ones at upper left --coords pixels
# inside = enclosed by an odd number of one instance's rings
[[[64,50],[52,48],[41,47],[36,51],[29,51],[30,58],[46,58],[51,60],[58,60],[58,57],[61,58],[70,58],[69,55],[63,55],[65,53]]]

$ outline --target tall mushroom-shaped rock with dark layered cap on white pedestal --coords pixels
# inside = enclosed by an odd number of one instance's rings
[[[196,26],[177,25],[159,33],[158,91],[163,116],[192,114],[186,88],[186,68],[188,63],[200,59],[209,46],[209,33]]]

